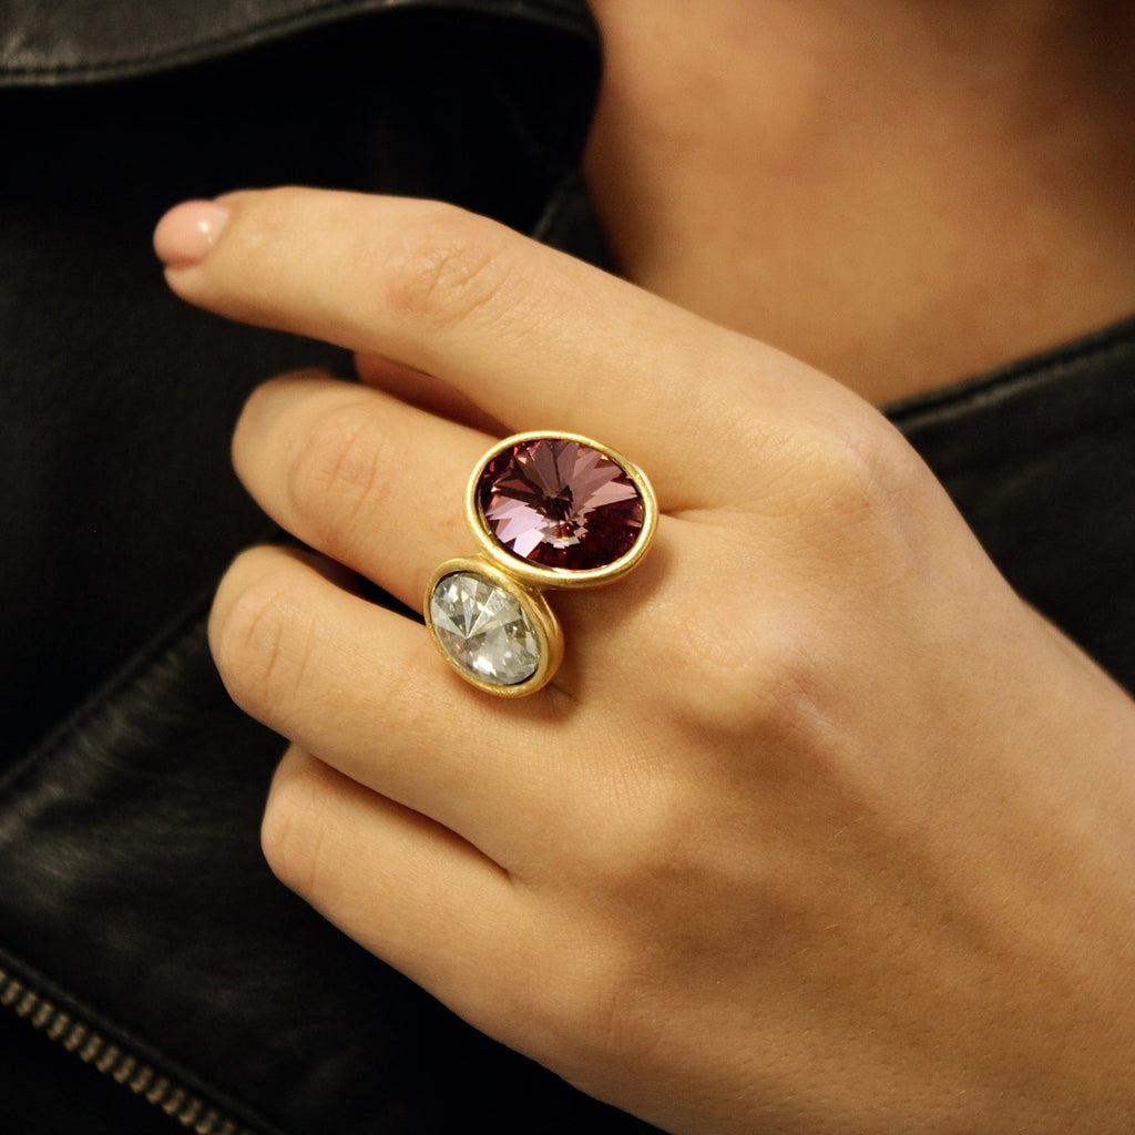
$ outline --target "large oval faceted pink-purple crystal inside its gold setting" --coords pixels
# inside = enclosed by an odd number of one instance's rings
[[[498,453],[481,473],[478,504],[504,548],[544,568],[605,568],[642,530],[642,498],[623,469],[564,438]]]

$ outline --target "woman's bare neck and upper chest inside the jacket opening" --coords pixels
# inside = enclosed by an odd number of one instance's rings
[[[1132,6],[597,0],[627,275],[876,403],[1135,310]]]

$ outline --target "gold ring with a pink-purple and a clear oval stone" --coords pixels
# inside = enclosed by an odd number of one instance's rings
[[[478,689],[547,686],[563,632],[544,592],[603,587],[642,560],[658,522],[637,465],[578,434],[518,434],[478,462],[465,493],[474,556],[447,560],[426,591],[426,625]]]

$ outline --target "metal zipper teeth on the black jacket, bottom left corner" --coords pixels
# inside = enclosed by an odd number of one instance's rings
[[[74,1052],[84,1063],[128,1087],[196,1135],[254,1135],[227,1119],[195,1092],[140,1060],[101,1033],[76,1020],[53,1001],[28,989],[0,967],[0,1007],[12,1010],[33,1028]]]

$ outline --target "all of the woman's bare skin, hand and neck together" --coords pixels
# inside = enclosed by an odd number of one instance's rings
[[[188,302],[360,360],[362,385],[267,384],[234,439],[314,549],[243,555],[210,628],[234,698],[292,742],[269,863],[478,1027],[675,1133],[1127,1135],[1135,705],[871,405],[1130,310],[1126,79],[1083,82],[1116,6],[1081,5],[1085,35],[1062,5],[698,6],[726,36],[676,0],[595,7],[589,176],[646,288],[428,202],[276,190],[159,227]],[[775,99],[749,85],[770,76]],[[564,666],[502,701],[352,573],[420,609],[472,549],[473,463],[539,426],[632,456],[664,515],[632,577],[553,597]]]

